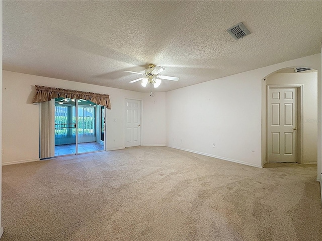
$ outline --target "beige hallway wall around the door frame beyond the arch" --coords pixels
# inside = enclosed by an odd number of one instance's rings
[[[269,84],[303,84],[303,143],[302,162],[317,162],[317,72],[278,73],[266,78]]]

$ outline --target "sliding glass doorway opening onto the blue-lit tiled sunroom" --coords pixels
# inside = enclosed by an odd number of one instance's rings
[[[54,156],[104,151],[104,114],[89,100],[55,98]]]

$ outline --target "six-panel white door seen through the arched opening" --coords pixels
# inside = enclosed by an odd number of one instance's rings
[[[268,162],[297,162],[297,89],[270,88],[267,115]]]

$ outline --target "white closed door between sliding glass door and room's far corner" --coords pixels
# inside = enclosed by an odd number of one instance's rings
[[[125,147],[141,145],[141,101],[125,99]]]

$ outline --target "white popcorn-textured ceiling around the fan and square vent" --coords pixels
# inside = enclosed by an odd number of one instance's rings
[[[251,34],[226,30],[243,22]],[[4,1],[3,68],[149,91],[128,83],[165,67],[155,91],[320,52],[321,1]]]

